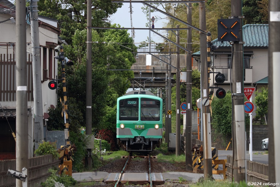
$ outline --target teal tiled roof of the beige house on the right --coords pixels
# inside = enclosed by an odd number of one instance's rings
[[[268,24],[247,24],[242,28],[243,46],[268,47]],[[218,41],[218,38],[212,41],[213,45],[231,46],[229,42]]]

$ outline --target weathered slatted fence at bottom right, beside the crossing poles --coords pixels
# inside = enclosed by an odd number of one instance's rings
[[[247,181],[256,183],[268,183],[268,164],[252,162],[246,160],[247,164]],[[232,180],[232,156],[227,155],[227,171],[226,176],[228,180]],[[233,176],[234,177],[234,176]]]

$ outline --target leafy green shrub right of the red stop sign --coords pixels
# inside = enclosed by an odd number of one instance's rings
[[[261,119],[261,123],[264,123],[264,117],[268,112],[268,88],[261,87],[256,91],[254,103],[257,107],[255,118]]]

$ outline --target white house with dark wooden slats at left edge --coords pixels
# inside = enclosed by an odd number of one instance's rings
[[[16,25],[13,20],[15,5],[7,0],[0,2],[0,160],[15,159],[15,140],[12,132],[16,132]],[[57,92],[50,90],[48,83],[57,79],[58,63],[54,48],[61,44],[58,20],[39,16],[39,41],[41,57],[41,86],[44,123],[46,123],[48,108],[57,106]],[[26,51],[27,51],[27,108],[28,111],[28,157],[33,156],[34,139],[34,100],[32,80],[32,47],[30,18],[26,19]],[[46,124],[44,124],[46,125]]]

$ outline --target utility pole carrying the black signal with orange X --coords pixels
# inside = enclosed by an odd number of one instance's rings
[[[240,18],[242,23],[242,1],[231,0],[232,18]],[[243,86],[243,42],[242,24],[240,24],[239,41],[232,42],[232,108],[233,108],[233,176],[239,183],[245,180],[245,112],[244,112],[244,86]],[[238,138],[237,138],[238,137]]]

